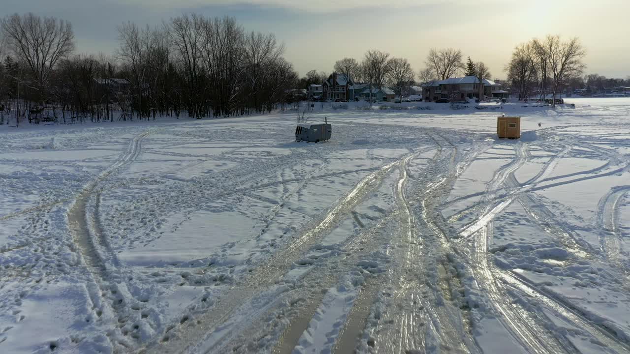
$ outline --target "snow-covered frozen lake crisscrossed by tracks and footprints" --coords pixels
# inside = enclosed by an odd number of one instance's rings
[[[624,353],[630,100],[567,101],[0,127],[0,351]]]

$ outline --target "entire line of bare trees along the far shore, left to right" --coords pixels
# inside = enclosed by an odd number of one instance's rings
[[[321,84],[328,74],[311,70],[299,78],[273,33],[245,31],[229,16],[183,14],[150,28],[118,26],[119,47],[110,55],[74,54],[71,23],[33,13],[0,20],[0,108],[16,123],[179,117],[229,117],[264,113],[304,98],[295,88]],[[515,47],[505,66],[512,94],[554,98],[566,86],[626,84],[597,74],[582,77],[585,50],[578,38],[548,35]],[[484,62],[459,49],[431,49],[415,72],[407,59],[367,50],[360,59],[337,60],[333,71],[370,88],[410,87],[450,77],[490,79]],[[612,80],[612,81],[611,81]],[[580,86],[581,85],[581,86]],[[483,96],[483,86],[479,85]],[[554,100],[555,102],[555,100]],[[3,112],[0,110],[0,112]],[[0,123],[4,114],[0,113]]]

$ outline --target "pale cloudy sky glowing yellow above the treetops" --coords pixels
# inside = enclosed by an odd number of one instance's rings
[[[368,49],[424,67],[428,51],[461,49],[494,78],[513,47],[547,33],[580,37],[586,73],[630,75],[630,0],[0,0],[1,13],[31,11],[71,21],[77,51],[113,54],[116,27],[159,25],[181,13],[236,17],[246,30],[273,32],[300,76],[330,72]]]

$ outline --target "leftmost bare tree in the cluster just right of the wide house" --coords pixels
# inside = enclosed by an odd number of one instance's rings
[[[518,100],[525,100],[536,83],[536,59],[531,43],[515,47],[510,62],[505,67],[512,89],[518,92]]]

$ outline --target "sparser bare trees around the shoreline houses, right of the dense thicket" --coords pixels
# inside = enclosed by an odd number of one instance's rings
[[[547,35],[539,40],[518,45],[504,68],[507,72],[505,86],[510,86],[512,94],[518,100],[526,100],[534,95],[544,99],[547,94],[556,96],[564,88],[582,88],[585,84],[602,86],[597,74],[582,78],[585,69],[583,58],[586,52],[578,38],[562,40],[558,35]],[[345,74],[355,83],[368,83],[372,86],[390,86],[396,94],[405,94],[414,84],[430,84],[434,81],[449,79],[459,75],[475,76],[481,83],[490,79],[489,67],[484,62],[474,62],[470,57],[464,64],[463,55],[459,49],[431,49],[425,59],[425,67],[414,72],[407,59],[391,57],[389,53],[380,50],[368,50],[361,61],[354,58],[343,58],[335,62],[333,71]],[[302,87],[309,84],[323,83],[328,74],[315,70],[307,72],[300,79]],[[623,81],[613,80],[614,83],[630,84],[630,77]],[[610,83],[608,79],[607,83]],[[620,85],[621,86],[621,85]],[[597,86],[595,86],[597,87]],[[483,96],[483,86],[479,85],[479,96]]]

